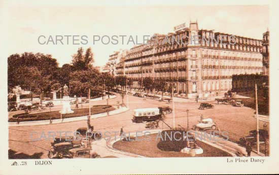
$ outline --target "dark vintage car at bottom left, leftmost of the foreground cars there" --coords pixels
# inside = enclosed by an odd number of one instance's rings
[[[80,148],[80,145],[73,145],[69,142],[62,142],[58,144],[54,144],[51,146],[50,151],[48,152],[49,158],[64,158],[69,157],[69,150],[73,148]]]

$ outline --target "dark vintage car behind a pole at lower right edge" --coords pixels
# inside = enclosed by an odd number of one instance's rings
[[[269,138],[267,130],[259,129],[259,139],[260,142],[264,142]],[[246,145],[246,143],[250,142],[252,145],[257,143],[257,130],[250,130],[249,135],[239,139],[240,145]]]

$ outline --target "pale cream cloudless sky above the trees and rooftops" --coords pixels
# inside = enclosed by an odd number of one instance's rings
[[[48,1],[46,1],[48,2]],[[173,32],[173,27],[189,21],[198,22],[199,29],[214,29],[256,39],[262,39],[262,34],[269,27],[268,6],[193,6],[179,4],[113,4],[106,3],[11,3],[8,11],[8,54],[23,52],[51,54],[57,59],[59,66],[72,62],[72,55],[79,47],[91,47],[96,66],[105,65],[109,55],[120,49],[130,49],[133,43],[128,38],[122,45],[119,35],[132,35],[138,42],[143,41],[144,35],[154,33],[167,34]],[[49,36],[55,39],[62,35],[63,45],[40,45]],[[66,37],[71,35],[69,43]],[[81,36],[86,35],[86,45],[73,45],[73,35],[79,35],[76,43],[81,43]],[[119,44],[105,45],[101,41],[93,43],[94,36],[117,35]],[[84,41],[84,40],[83,40]],[[107,42],[104,37],[104,42]],[[85,42],[85,41],[84,41]]]

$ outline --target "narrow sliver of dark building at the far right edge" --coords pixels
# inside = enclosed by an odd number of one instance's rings
[[[269,31],[263,33],[263,74],[269,75]]]

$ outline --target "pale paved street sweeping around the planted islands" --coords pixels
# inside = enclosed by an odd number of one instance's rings
[[[117,105],[119,101],[121,103],[120,95],[117,95],[116,99],[110,100],[110,105]],[[124,101],[126,101],[126,98]],[[102,105],[107,104],[107,101],[92,102],[90,105]],[[256,129],[256,119],[253,117],[254,110],[247,107],[233,107],[230,105],[217,105],[215,102],[214,109],[199,110],[200,103],[195,102],[176,102],[175,114],[176,114],[176,126],[181,125],[187,127],[187,113],[186,109],[189,109],[189,126],[192,127],[200,119],[200,114],[204,118],[212,118],[220,127],[221,131],[229,133],[229,140],[238,141],[239,138],[247,136],[249,130]],[[135,132],[146,130],[146,123],[133,123],[132,109],[157,107],[160,105],[169,105],[166,102],[160,102],[156,100],[129,96],[130,110],[121,114],[101,117],[91,120],[91,125],[94,125],[94,130],[99,132],[110,132],[112,136],[113,132],[120,132],[121,126],[123,126],[124,132]],[[57,107],[58,108],[58,107]],[[172,126],[172,114],[167,114],[165,122]],[[263,122],[260,121],[260,128],[263,126]],[[24,158],[47,158],[47,152],[50,148],[51,141],[40,140],[31,142],[30,133],[37,132],[38,135],[33,135],[33,138],[40,138],[40,134],[43,132],[48,137],[48,132],[74,132],[78,127],[86,127],[87,123],[83,121],[75,121],[61,124],[52,125],[38,125],[38,126],[18,126],[9,127],[9,148],[21,155]],[[160,122],[160,128],[168,128],[165,124]],[[119,134],[118,134],[119,135]]]

